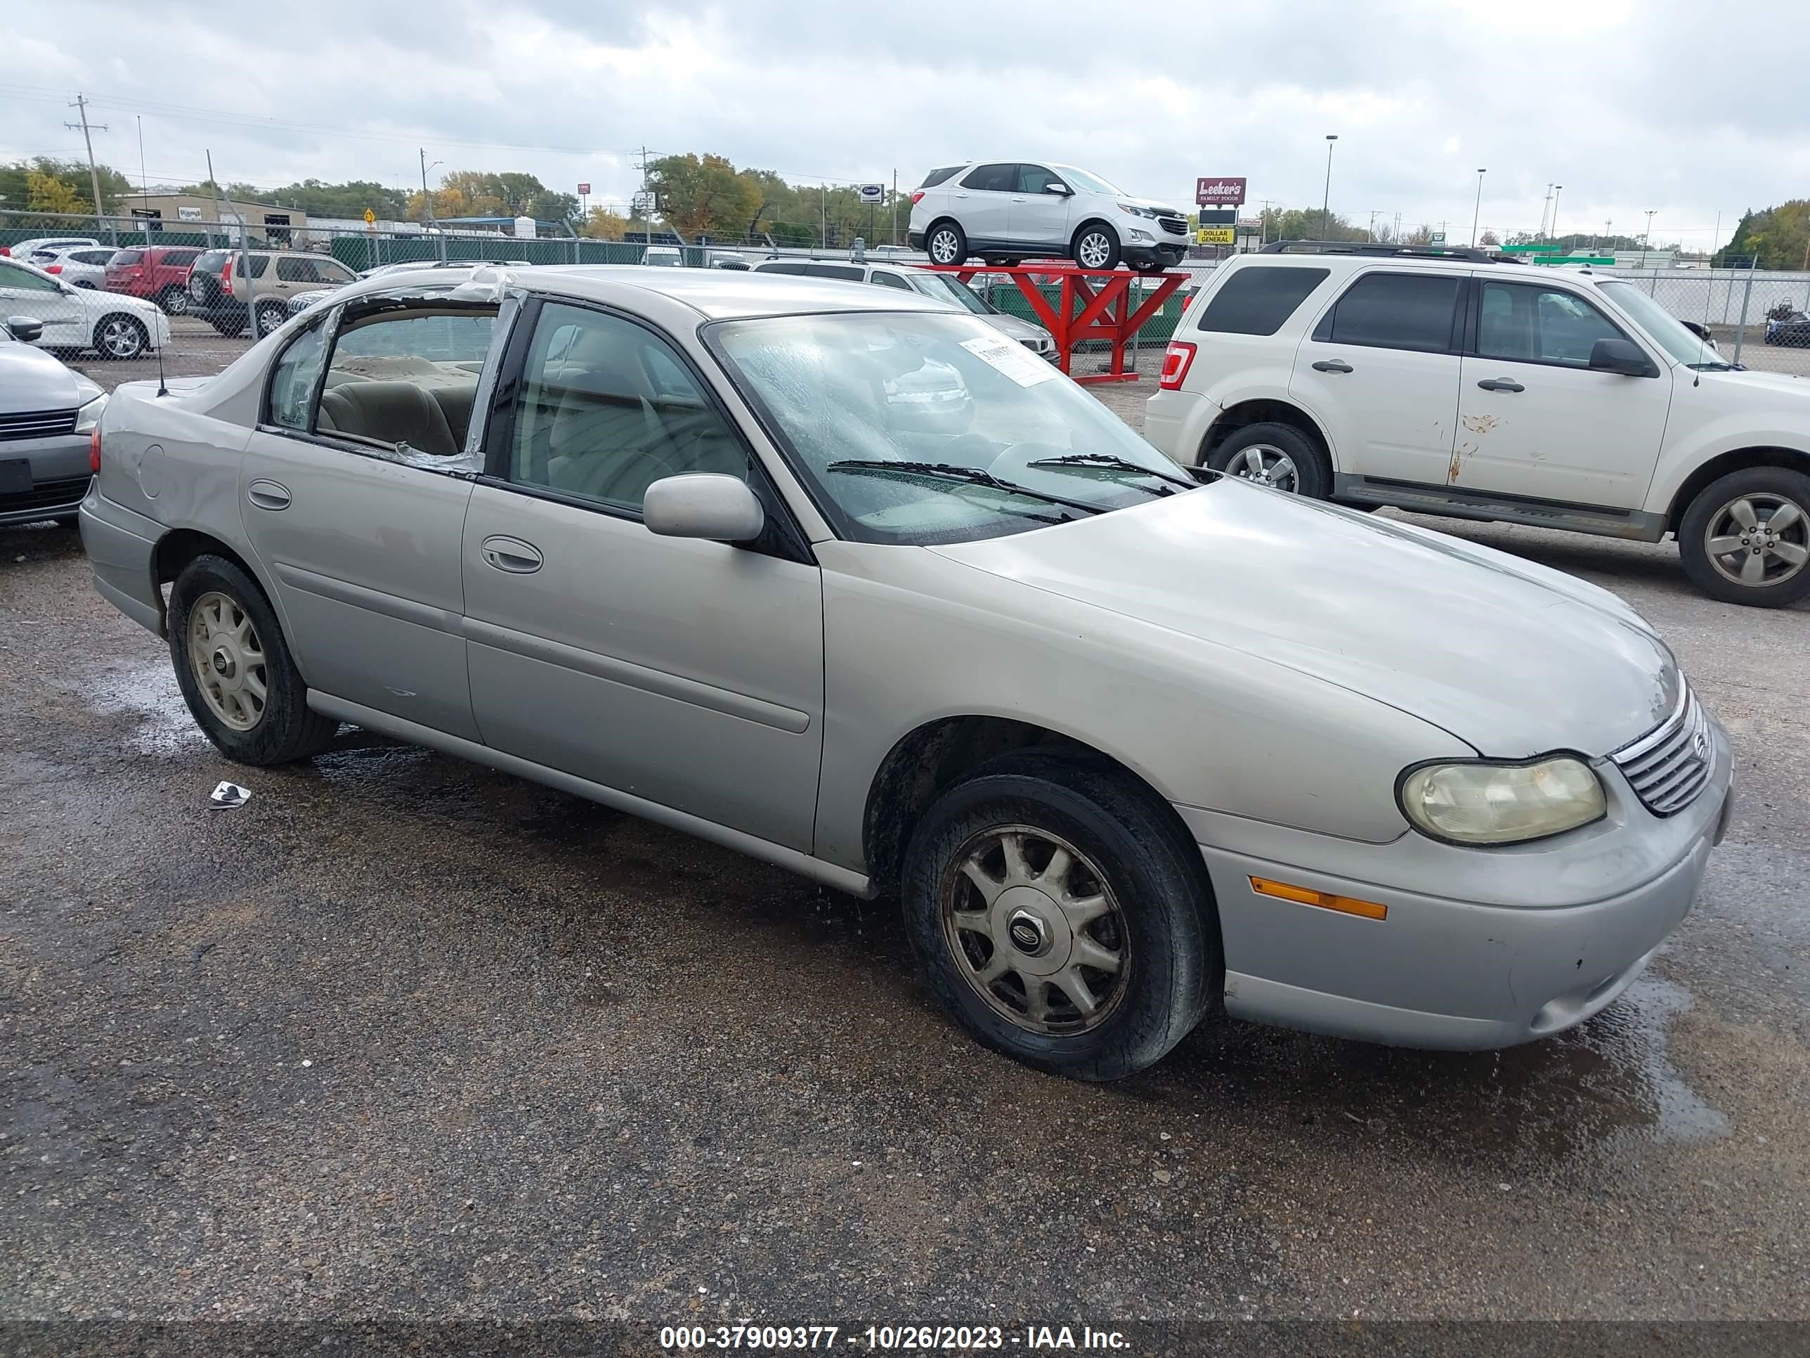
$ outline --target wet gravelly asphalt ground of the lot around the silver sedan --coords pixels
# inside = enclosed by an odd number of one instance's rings
[[[1729,726],[1696,909],[1557,1039],[1211,1023],[1104,1088],[968,1043],[887,904],[357,732],[223,762],[76,536],[0,531],[0,1316],[1805,1318],[1810,608],[1441,527]]]

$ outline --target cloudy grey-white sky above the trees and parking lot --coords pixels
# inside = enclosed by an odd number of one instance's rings
[[[80,156],[205,176],[418,185],[529,170],[626,199],[635,148],[713,150],[793,179],[916,185],[968,156],[1072,161],[1129,192],[1251,199],[1359,223],[1727,239],[1810,192],[1805,0],[1243,0],[901,5],[807,0],[13,0],[0,159]]]

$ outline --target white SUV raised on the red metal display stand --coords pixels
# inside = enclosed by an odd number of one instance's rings
[[[1061,255],[1082,268],[1126,263],[1155,273],[1187,253],[1187,214],[1073,165],[963,161],[918,185],[909,239],[932,264],[979,255],[1010,268]]]

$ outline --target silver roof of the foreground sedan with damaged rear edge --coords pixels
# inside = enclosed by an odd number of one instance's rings
[[[624,290],[664,297],[706,320],[737,320],[766,315],[811,315],[816,311],[947,311],[943,302],[916,292],[876,292],[867,282],[811,279],[796,273],[760,273],[757,270],[672,268],[644,264],[536,264],[525,270],[496,270],[512,286],[548,297],[576,297],[595,302],[624,302]],[[366,279],[348,284],[348,301],[404,286],[407,292],[436,282],[472,282],[471,270],[422,270],[407,273],[407,282]],[[876,297],[885,304],[878,306]]]

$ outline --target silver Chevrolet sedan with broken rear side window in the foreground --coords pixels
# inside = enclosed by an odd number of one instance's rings
[[[81,505],[230,759],[340,722],[896,893],[983,1043],[1486,1048],[1691,909],[1729,744],[1555,570],[1155,453],[985,320],[722,270],[353,284],[127,384]]]

